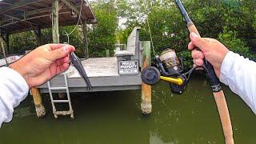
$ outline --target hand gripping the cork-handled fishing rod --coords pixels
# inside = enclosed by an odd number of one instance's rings
[[[219,78],[220,69],[222,62],[229,52],[229,50],[221,42],[212,38],[200,38],[197,34],[190,34],[191,42],[188,45],[189,50],[192,50],[193,62],[197,66],[203,65],[203,58],[206,58],[212,66],[214,66],[214,71]],[[200,50],[195,50],[198,47]]]

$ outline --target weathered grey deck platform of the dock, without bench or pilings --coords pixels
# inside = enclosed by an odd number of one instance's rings
[[[117,57],[110,58],[89,58],[82,61],[86,73],[93,86],[93,90],[87,90],[86,82],[78,74],[74,66],[66,71],[68,75],[68,86],[70,93],[73,92],[94,92],[111,90],[138,90],[141,89],[141,74],[119,75]],[[50,80],[52,87],[65,86],[63,75]],[[47,83],[38,87],[42,93],[49,93]],[[54,93],[65,92],[65,90],[54,90]]]

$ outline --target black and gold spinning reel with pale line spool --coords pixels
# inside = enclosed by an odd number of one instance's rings
[[[161,79],[169,82],[170,90],[182,94],[190,80],[193,71],[198,68],[194,66],[186,73],[184,71],[183,58],[178,58],[175,50],[166,49],[162,54],[155,55],[156,66],[148,66],[142,70],[142,81],[148,85],[155,85]]]

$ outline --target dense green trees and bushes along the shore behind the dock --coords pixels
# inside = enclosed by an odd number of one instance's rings
[[[230,50],[256,60],[256,1],[200,1],[183,0],[184,6],[198,27],[202,37],[217,38]],[[105,57],[106,50],[114,55],[114,44],[125,44],[134,26],[141,26],[140,40],[150,40],[146,17],[149,20],[154,49],[157,54],[166,48],[175,49],[184,58],[185,67],[192,66],[186,24],[174,3],[167,0],[95,0],[90,2],[98,24],[88,25],[89,53],[91,57]],[[66,42],[60,28],[60,42]],[[42,44],[52,42],[51,29],[42,30]],[[84,57],[82,29],[70,35],[70,44],[77,47],[76,54]],[[37,47],[34,31],[10,35],[10,54],[24,54]],[[152,57],[154,58],[154,57]]]

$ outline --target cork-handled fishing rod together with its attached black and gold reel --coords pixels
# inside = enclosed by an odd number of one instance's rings
[[[194,32],[201,37],[197,27],[191,21],[184,6],[182,5],[182,2],[180,0],[175,0],[175,3],[181,11],[190,33]],[[197,50],[199,49],[197,48]],[[178,58],[175,50],[166,49],[162,51],[161,54],[154,56],[154,65],[155,66],[148,66],[146,69],[142,70],[142,82],[145,82],[148,85],[154,85],[162,79],[163,81],[169,82],[170,90],[178,94],[182,94],[186,89],[186,85],[188,84],[190,76],[194,70],[198,67],[203,68],[203,70],[206,71],[206,78],[210,83],[211,90],[213,91],[214,99],[218,107],[218,114],[222,122],[222,130],[226,144],[234,144],[233,130],[225,95],[222,91],[222,86],[218,77],[214,72],[214,67],[210,62],[204,59],[203,66],[194,66],[184,73],[183,59]]]

